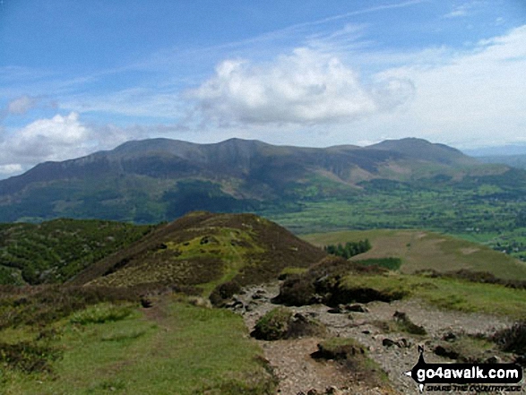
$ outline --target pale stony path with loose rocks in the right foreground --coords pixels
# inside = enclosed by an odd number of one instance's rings
[[[252,331],[255,322],[276,307],[271,299],[278,293],[278,283],[246,288],[242,295],[236,296],[230,308],[243,315],[246,326]],[[330,308],[326,305],[290,309],[323,322],[332,336],[357,339],[368,349],[368,355],[388,374],[395,390],[370,388],[363,382],[353,382],[338,364],[332,361],[316,362],[310,354],[316,351],[320,339],[258,340],[265,357],[280,379],[280,394],[418,393],[416,383],[404,374],[418,360],[418,345],[424,346],[427,362],[451,362],[433,353],[436,340],[452,335],[493,333],[511,324],[501,317],[438,310],[417,300],[396,301],[391,304],[372,302],[361,307],[364,312],[342,310],[330,313]],[[357,309],[360,310],[361,307]],[[386,334],[380,329],[379,322],[392,322],[396,312],[407,314],[411,322],[426,329],[427,335],[417,336],[406,332]]]

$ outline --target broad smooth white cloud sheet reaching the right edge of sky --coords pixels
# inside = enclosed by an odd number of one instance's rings
[[[480,41],[435,65],[410,64],[382,73],[410,80],[415,97],[397,114],[379,115],[357,130],[418,135],[457,146],[502,145],[526,133],[526,26]]]

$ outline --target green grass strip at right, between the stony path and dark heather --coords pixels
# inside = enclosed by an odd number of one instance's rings
[[[526,311],[526,290],[461,279],[436,278],[391,273],[347,276],[343,288],[373,288],[381,293],[399,292],[431,305],[463,312],[491,313],[522,318]]]

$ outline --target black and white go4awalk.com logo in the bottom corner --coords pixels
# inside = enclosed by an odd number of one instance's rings
[[[406,374],[417,382],[420,391],[425,387],[427,391],[522,391],[521,385],[510,385],[522,381],[520,365],[427,364],[424,348],[418,346],[418,352],[417,365]]]

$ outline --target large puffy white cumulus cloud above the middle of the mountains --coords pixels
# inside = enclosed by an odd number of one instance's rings
[[[399,106],[413,90],[390,77],[372,85],[336,56],[297,48],[269,64],[226,60],[186,97],[205,118],[231,124],[347,122]]]

